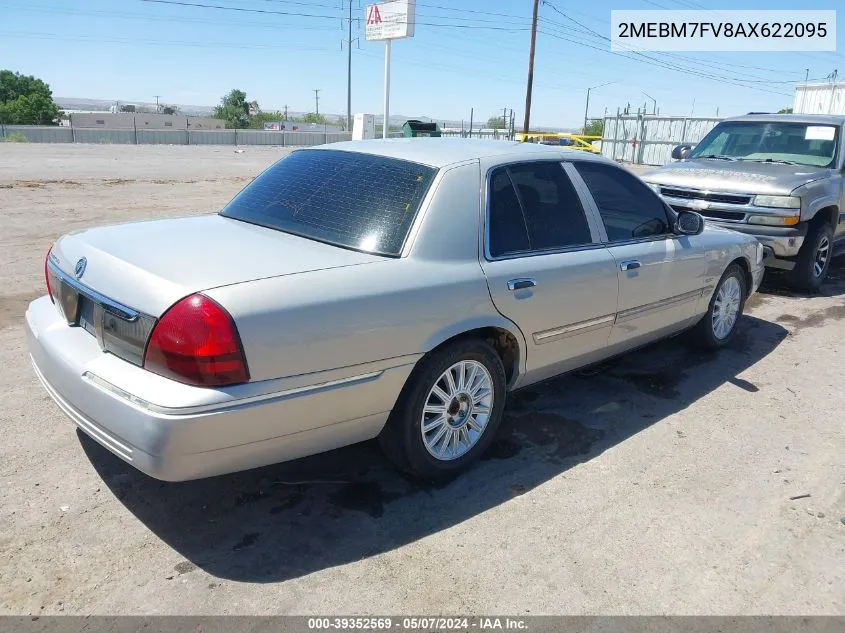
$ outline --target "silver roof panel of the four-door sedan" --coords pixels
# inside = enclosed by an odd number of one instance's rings
[[[329,143],[309,149],[360,152],[362,154],[409,160],[431,167],[446,167],[447,165],[480,158],[500,159],[496,162],[502,163],[525,160],[526,158],[607,160],[600,156],[566,149],[565,147],[469,138],[371,139],[366,141]]]

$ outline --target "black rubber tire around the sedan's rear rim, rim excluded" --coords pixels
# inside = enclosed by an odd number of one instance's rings
[[[435,383],[460,361],[476,361],[486,368],[493,386],[493,402],[475,444],[459,457],[441,460],[429,453],[423,442],[423,407]],[[414,477],[429,481],[448,478],[473,463],[490,446],[502,420],[506,397],[505,370],[496,350],[480,338],[457,341],[429,353],[414,368],[379,435],[379,444],[397,468]]]

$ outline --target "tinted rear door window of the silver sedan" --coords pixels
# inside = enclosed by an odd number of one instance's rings
[[[558,162],[499,167],[489,196],[491,257],[593,243],[578,193]]]

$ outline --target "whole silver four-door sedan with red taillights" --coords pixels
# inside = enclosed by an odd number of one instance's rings
[[[153,477],[375,437],[436,477],[485,451],[510,391],[688,328],[728,344],[762,257],[583,152],[340,143],[217,214],[63,236],[26,330],[59,408]]]

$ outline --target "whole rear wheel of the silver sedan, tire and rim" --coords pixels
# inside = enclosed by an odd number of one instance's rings
[[[505,407],[505,370],[481,339],[424,357],[379,436],[397,467],[424,479],[457,473],[493,441]]]

